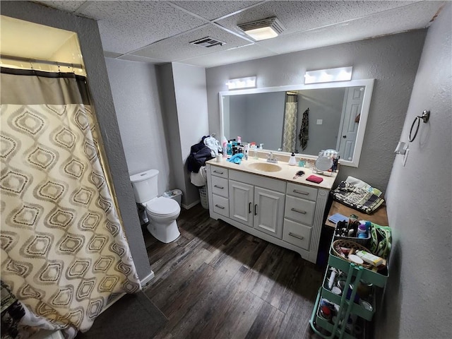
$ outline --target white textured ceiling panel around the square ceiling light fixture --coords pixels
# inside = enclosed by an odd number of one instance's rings
[[[282,35],[286,35],[405,6],[410,2],[414,1],[268,1],[218,20],[218,23],[243,34],[237,24],[276,16],[285,27]]]

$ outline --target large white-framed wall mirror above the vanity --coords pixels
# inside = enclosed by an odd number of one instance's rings
[[[307,157],[335,149],[357,167],[374,79],[220,92],[222,135]]]

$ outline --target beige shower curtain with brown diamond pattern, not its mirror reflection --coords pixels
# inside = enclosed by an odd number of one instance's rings
[[[82,76],[1,68],[1,281],[69,337],[141,289],[88,97]]]

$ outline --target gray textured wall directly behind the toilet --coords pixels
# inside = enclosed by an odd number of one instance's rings
[[[158,169],[158,191],[169,185],[170,166],[155,66],[105,59],[130,174]]]

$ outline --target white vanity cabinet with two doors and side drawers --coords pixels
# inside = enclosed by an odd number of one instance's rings
[[[293,174],[275,179],[213,163],[207,163],[211,218],[316,262],[329,189],[291,182]]]

